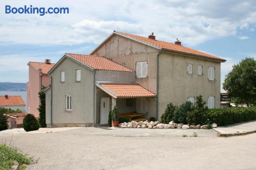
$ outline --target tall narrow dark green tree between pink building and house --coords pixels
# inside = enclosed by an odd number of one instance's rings
[[[45,87],[42,86],[41,89],[44,90]],[[38,121],[41,128],[46,128],[46,94],[42,90],[38,92],[39,99],[40,99],[40,105],[37,109],[39,111]]]

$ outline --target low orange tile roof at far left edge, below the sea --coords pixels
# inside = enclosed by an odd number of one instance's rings
[[[12,106],[12,105],[25,105],[22,96],[20,95],[8,95],[8,99],[5,96],[0,96],[0,106]]]

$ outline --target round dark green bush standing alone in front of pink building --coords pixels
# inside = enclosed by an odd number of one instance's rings
[[[38,120],[33,114],[27,114],[23,119],[23,128],[25,131],[34,131],[39,129]]]

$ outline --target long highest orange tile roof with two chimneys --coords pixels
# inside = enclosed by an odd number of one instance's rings
[[[114,33],[124,35],[124,36],[127,36],[127,37],[131,37],[133,39],[143,41],[147,44],[155,45],[155,46],[160,47],[164,50],[169,50],[169,51],[174,51],[174,52],[181,52],[181,53],[196,55],[196,56],[202,56],[202,57],[205,57],[205,58],[219,60],[219,61],[226,61],[226,60],[224,60],[220,57],[216,57],[214,55],[210,55],[210,54],[207,54],[207,53],[204,53],[204,52],[193,50],[191,48],[188,48],[188,47],[185,47],[185,46],[182,46],[182,45],[177,45],[177,44],[170,43],[170,42],[165,42],[165,41],[153,40],[153,39],[150,39],[150,38],[141,37],[141,36],[133,35],[133,34],[117,32],[117,31],[114,31]]]

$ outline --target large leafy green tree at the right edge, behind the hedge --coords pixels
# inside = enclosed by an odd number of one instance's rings
[[[256,104],[256,61],[246,58],[226,75],[223,89],[227,90],[231,102],[254,106]]]

